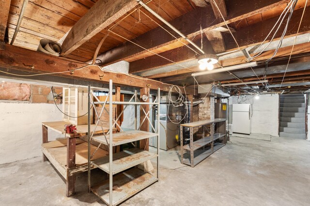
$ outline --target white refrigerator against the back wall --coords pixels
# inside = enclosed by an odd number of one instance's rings
[[[233,104],[233,132],[251,133],[251,104]]]

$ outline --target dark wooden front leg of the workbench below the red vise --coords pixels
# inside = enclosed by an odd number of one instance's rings
[[[67,137],[67,167],[76,166],[76,138]],[[75,193],[76,175],[69,176],[66,179],[66,195],[70,197]]]

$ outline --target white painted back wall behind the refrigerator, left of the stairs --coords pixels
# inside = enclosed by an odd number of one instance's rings
[[[259,99],[254,96],[233,96],[229,104],[250,103],[252,104],[252,133],[269,134],[279,136],[279,94],[260,95]]]

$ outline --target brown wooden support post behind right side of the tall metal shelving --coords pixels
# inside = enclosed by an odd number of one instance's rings
[[[142,100],[142,96],[143,95],[149,95],[150,94],[150,88],[141,88],[140,89],[140,102],[144,102]],[[147,103],[150,102],[149,99],[147,99],[146,101]],[[142,108],[144,109],[144,111],[147,113],[150,110],[150,106],[149,105],[140,105],[140,123],[143,121],[145,114],[142,110]],[[146,131],[149,132],[149,121],[147,119],[145,119],[145,121],[143,122],[143,124],[140,127],[141,131]],[[140,140],[140,149],[145,149],[145,150],[149,150],[149,139],[142,139]]]

